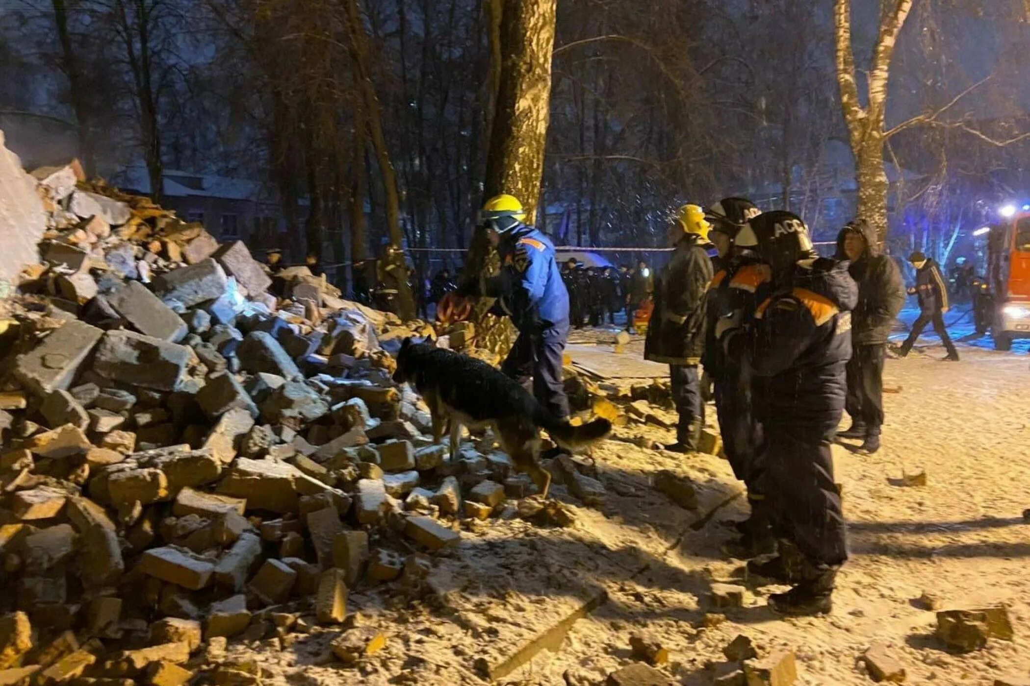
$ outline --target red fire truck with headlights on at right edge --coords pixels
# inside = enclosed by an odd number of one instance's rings
[[[990,328],[997,350],[1030,338],[1030,211],[991,226],[985,278],[973,284],[976,329]]]

